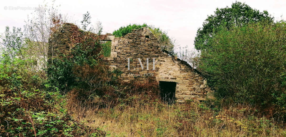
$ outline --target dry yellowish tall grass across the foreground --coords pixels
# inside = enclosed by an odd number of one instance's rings
[[[76,119],[105,131],[107,136],[286,136],[283,124],[261,116],[246,105],[218,110],[209,102],[168,105],[161,101],[146,103],[140,96],[133,99],[132,105],[69,110]]]

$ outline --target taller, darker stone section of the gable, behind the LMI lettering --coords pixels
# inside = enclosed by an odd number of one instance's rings
[[[132,33],[128,33],[120,38],[115,38],[112,41],[111,50],[111,54],[115,55],[112,56],[114,60],[111,61],[111,65],[123,71],[120,75],[120,79],[123,81],[128,82],[136,79],[143,83],[145,79],[155,79],[154,73],[158,70],[157,62],[162,51],[160,50],[157,39],[147,27],[133,30]],[[153,58],[155,59],[154,70]],[[149,60],[148,69],[147,59]],[[108,60],[110,59],[108,58]],[[142,62],[143,69],[139,60]]]

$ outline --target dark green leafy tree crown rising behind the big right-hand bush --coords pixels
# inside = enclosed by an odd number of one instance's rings
[[[208,43],[220,26],[230,29],[232,26],[243,26],[251,22],[262,20],[273,22],[273,17],[267,11],[260,12],[241,2],[235,2],[231,7],[217,8],[214,15],[210,15],[199,28],[194,40],[197,50],[210,47]]]

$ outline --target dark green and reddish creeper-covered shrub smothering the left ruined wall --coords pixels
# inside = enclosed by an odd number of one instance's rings
[[[62,93],[66,93],[80,85],[77,83],[77,77],[74,75],[74,68],[78,66],[96,66],[103,57],[101,53],[102,46],[97,34],[84,32],[77,26],[72,28],[72,45],[68,53],[59,53],[52,58],[48,64],[47,74],[51,85],[59,87]]]

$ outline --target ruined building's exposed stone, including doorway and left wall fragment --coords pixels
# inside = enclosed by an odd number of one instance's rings
[[[56,32],[59,40],[50,38],[49,44],[55,45],[54,50],[69,50],[72,25],[62,25]],[[119,78],[124,82],[136,80],[143,83],[153,78],[166,97],[175,98],[179,103],[186,100],[204,101],[212,97],[213,92],[201,73],[187,62],[161,50],[157,38],[148,27],[132,30],[118,38],[107,35],[102,40],[111,41],[110,57],[105,60],[108,61],[109,69],[120,69],[123,72]]]

